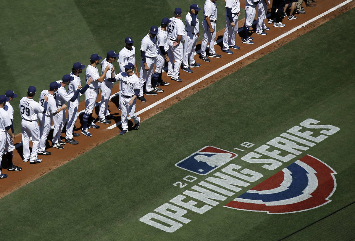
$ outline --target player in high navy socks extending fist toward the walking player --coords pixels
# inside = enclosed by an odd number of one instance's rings
[[[90,56],[90,64],[86,68],[85,81],[89,84],[89,88],[85,91],[85,111],[83,114],[83,126],[81,128],[81,134],[85,136],[92,136],[89,132],[89,128],[100,128],[99,125],[95,124],[95,119],[92,118],[92,111],[95,108],[96,98],[99,93],[99,83],[104,81],[107,71],[110,70],[110,66],[106,65],[104,73],[100,76],[97,65],[100,63],[99,60],[102,59],[98,54],[92,54]],[[89,123],[89,124],[88,124]]]

